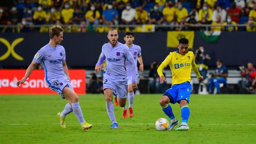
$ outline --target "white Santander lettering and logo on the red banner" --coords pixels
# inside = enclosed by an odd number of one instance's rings
[[[17,78],[14,77],[13,80],[9,80],[7,78],[0,79],[0,88],[1,87],[12,87],[17,88]],[[73,88],[80,88],[81,87],[81,79],[72,79],[70,81]],[[48,88],[46,81],[43,79],[29,79],[20,85],[21,88]]]

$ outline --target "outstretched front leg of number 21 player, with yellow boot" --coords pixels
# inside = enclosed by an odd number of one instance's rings
[[[84,116],[78,102],[79,101],[78,95],[75,92],[73,92],[73,90],[70,89],[68,86],[64,87],[64,89],[62,90],[62,94],[64,98],[66,98],[67,101],[72,104],[73,112],[75,113],[76,118],[79,120],[82,128],[84,130],[91,128],[93,125],[88,124],[84,120]]]

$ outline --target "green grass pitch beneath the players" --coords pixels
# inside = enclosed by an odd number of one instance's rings
[[[191,95],[188,131],[154,128],[157,118],[169,120],[160,97],[135,95],[133,118],[123,119],[122,108],[114,106],[119,129],[111,130],[104,95],[79,95],[84,118],[93,124],[84,131],[73,112],[66,117],[66,129],[58,125],[56,114],[67,103],[59,95],[0,95],[0,144],[256,143],[256,95]],[[171,106],[181,120],[179,105]]]

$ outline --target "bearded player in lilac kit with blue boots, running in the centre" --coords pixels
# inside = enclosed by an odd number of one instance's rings
[[[100,72],[100,65],[107,60],[106,70],[103,74],[103,89],[106,98],[108,116],[112,121],[112,129],[118,128],[112,103],[113,93],[117,96],[117,101],[120,107],[125,107],[126,103],[127,73],[125,63],[129,63],[132,67],[132,72],[128,75],[132,75],[132,88],[138,88],[136,81],[137,66],[134,58],[131,55],[128,46],[119,43],[117,39],[118,32],[116,29],[110,29],[108,31],[108,40],[110,43],[105,43],[102,46],[102,53],[95,66],[95,71]]]

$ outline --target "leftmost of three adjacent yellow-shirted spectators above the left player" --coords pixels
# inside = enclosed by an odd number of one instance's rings
[[[37,11],[35,11],[33,20],[35,24],[45,24],[46,23],[47,14],[43,10],[41,6],[38,6]]]

